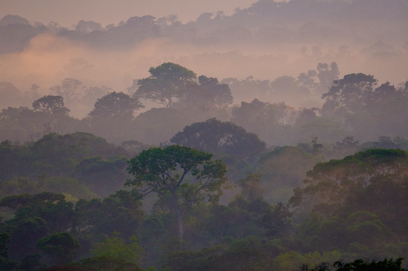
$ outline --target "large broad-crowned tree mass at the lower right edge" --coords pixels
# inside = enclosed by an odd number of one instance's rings
[[[343,257],[405,255],[408,154],[371,149],[317,164],[291,199],[308,250],[343,250]],[[386,245],[388,244],[388,245]]]

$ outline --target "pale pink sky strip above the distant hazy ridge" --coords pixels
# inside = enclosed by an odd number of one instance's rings
[[[225,15],[231,15],[236,8],[247,8],[255,2],[257,0],[0,0],[0,17],[19,15],[31,23],[56,21],[68,28],[82,19],[106,26],[143,15],[159,18],[176,14],[186,23],[203,12],[222,10]]]

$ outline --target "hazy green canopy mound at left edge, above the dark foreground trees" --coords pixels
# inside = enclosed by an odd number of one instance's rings
[[[48,133],[21,145],[4,141],[0,143],[0,197],[42,191],[87,199],[96,193],[108,196],[126,178],[125,154],[123,148],[84,132]]]

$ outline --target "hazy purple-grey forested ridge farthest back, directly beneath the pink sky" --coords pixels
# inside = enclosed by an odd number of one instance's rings
[[[378,14],[377,10],[385,6],[388,12]],[[379,23],[376,31],[386,33],[390,21],[397,25],[403,22],[405,9],[406,3],[403,0],[395,0],[392,3],[376,0],[370,4],[364,0],[258,1],[245,9],[237,8],[231,16],[222,11],[206,12],[200,14],[195,21],[187,23],[182,23],[176,15],[161,18],[145,15],[130,17],[117,25],[106,26],[95,21],[80,20],[72,29],[57,22],[49,22],[47,25],[40,22],[30,24],[27,19],[9,14],[0,19],[0,37],[4,37],[0,38],[0,53],[22,51],[31,38],[42,33],[52,33],[95,48],[120,49],[159,37],[193,45],[234,42],[308,43],[312,40],[319,40],[320,43],[341,43],[345,39],[352,40],[353,37],[368,35],[367,29],[359,28],[354,29],[355,33],[349,33],[350,24],[356,24],[363,18],[368,24]],[[304,10],[308,12],[303,12]],[[354,10],[359,12],[355,13]],[[381,22],[384,22],[384,25]],[[319,48],[314,50],[318,53]]]

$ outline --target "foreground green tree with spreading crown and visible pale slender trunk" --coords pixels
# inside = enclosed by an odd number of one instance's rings
[[[150,148],[130,159],[127,170],[134,179],[125,185],[134,187],[142,196],[157,193],[166,201],[174,211],[182,241],[183,214],[204,199],[218,201],[227,181],[225,164],[212,161],[212,156],[180,145]]]

